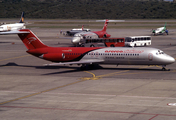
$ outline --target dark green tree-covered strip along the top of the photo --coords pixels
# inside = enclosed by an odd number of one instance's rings
[[[176,3],[158,0],[0,0],[0,18],[175,19]]]

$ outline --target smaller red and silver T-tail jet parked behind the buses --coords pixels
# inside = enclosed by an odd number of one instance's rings
[[[102,21],[102,20],[97,20]],[[104,21],[104,20],[103,20]],[[72,38],[71,42],[75,46],[81,46],[80,40],[84,38],[109,38],[111,35],[107,34],[106,29],[109,22],[122,22],[124,20],[105,20],[104,27],[101,31],[92,31],[92,32],[80,32],[76,33]]]

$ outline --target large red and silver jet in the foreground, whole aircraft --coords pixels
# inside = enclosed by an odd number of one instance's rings
[[[149,47],[50,47],[45,45],[31,30],[21,29],[18,36],[27,47],[27,53],[51,62],[47,65],[161,65],[175,62],[162,50]]]

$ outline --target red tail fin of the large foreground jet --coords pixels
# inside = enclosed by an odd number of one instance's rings
[[[19,31],[29,32],[18,34],[28,50],[47,47],[44,43],[29,29],[22,29]]]

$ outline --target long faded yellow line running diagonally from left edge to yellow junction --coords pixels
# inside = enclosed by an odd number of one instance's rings
[[[19,97],[19,98],[16,98],[16,99],[12,99],[12,100],[8,100],[8,101],[5,101],[5,102],[1,102],[0,105],[7,104],[7,103],[10,103],[10,102],[13,102],[13,101],[17,101],[17,100],[21,100],[21,99],[24,99],[24,98],[32,97],[32,96],[35,96],[35,95],[39,95],[39,94],[42,94],[42,93],[45,93],[45,92],[53,91],[53,90],[56,90],[56,89],[59,89],[59,88],[63,88],[63,87],[69,86],[69,85],[73,85],[73,84],[76,84],[76,83],[79,83],[79,82],[83,82],[83,81],[85,81],[85,80],[72,82],[72,83],[69,83],[69,84],[66,84],[66,85],[62,85],[62,86],[59,86],[59,87],[43,90],[41,92],[37,92],[37,93],[33,93],[33,94],[26,95],[26,96],[23,96],[23,97]]]

